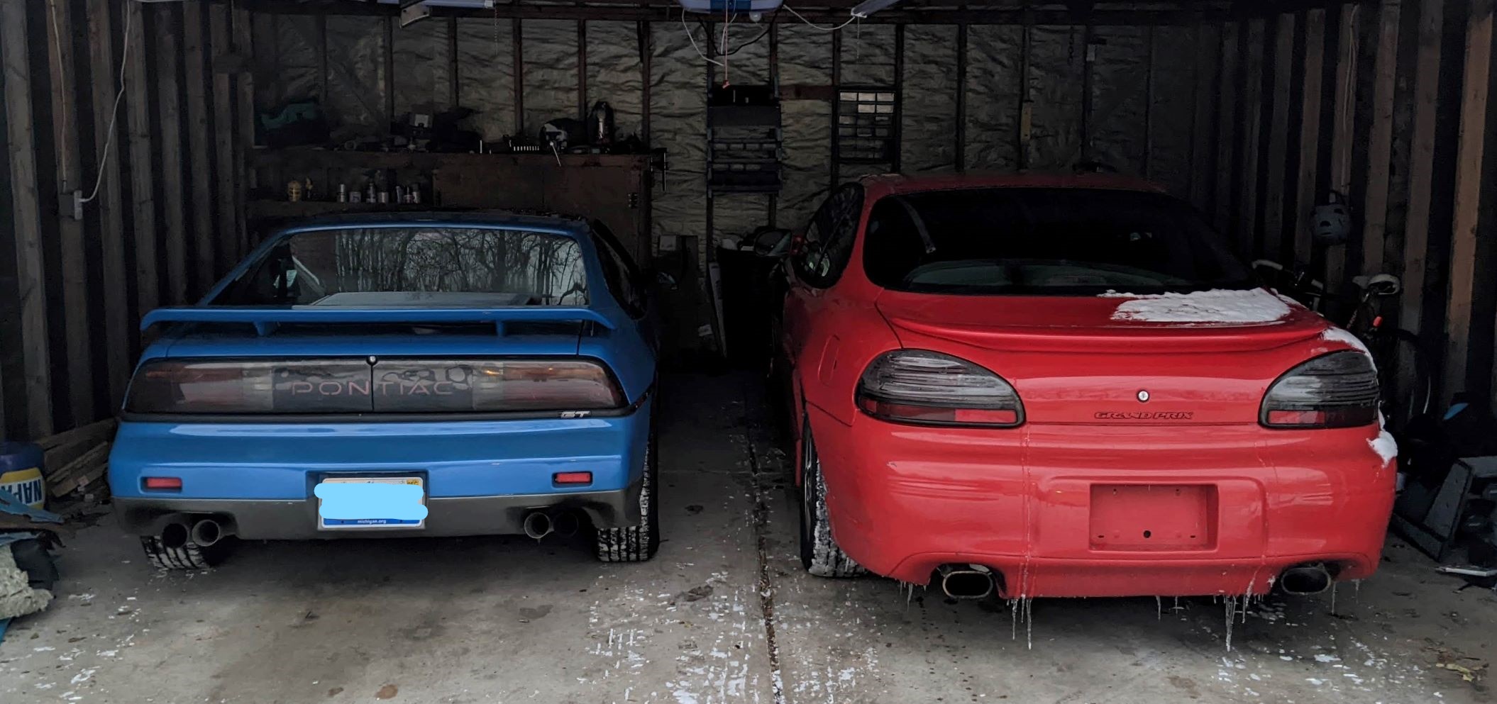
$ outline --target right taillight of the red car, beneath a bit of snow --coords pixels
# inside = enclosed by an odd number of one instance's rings
[[[1352,427],[1377,423],[1377,371],[1367,354],[1337,351],[1278,377],[1263,395],[1268,427]]]

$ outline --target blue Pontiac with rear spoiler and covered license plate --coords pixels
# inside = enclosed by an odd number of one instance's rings
[[[660,543],[645,281],[582,220],[370,214],[269,236],[162,326],[109,456],[151,563],[229,541],[570,532]]]

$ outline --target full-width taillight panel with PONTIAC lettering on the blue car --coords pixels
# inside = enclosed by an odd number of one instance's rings
[[[591,360],[157,360],[124,410],[142,414],[569,413],[626,405]]]

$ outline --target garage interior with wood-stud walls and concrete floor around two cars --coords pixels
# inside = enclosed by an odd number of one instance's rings
[[[0,438],[46,450],[76,529],[0,644],[4,701],[1488,701],[1497,596],[1439,574],[1466,556],[1418,520],[1356,589],[1246,608],[805,575],[763,381],[778,302],[743,282],[760,233],[862,175],[1115,170],[1244,260],[1400,277],[1382,312],[1434,413],[1490,417],[1493,1],[855,4],[0,3]],[[145,569],[103,480],[141,317],[281,223],[434,206],[597,218],[675,281],[662,555],[338,541]]]

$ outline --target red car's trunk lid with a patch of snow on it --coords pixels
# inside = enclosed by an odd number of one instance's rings
[[[1284,371],[1331,348],[1323,318],[1265,290],[1153,296],[936,296],[885,291],[907,348],[1006,378],[1028,423],[1256,423]]]

